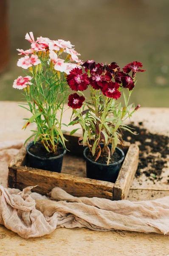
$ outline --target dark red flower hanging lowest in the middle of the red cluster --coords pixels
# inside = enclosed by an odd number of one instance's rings
[[[120,84],[110,81],[104,82],[104,87],[101,89],[102,93],[108,98],[118,99],[121,96],[121,92],[119,92],[118,88]]]

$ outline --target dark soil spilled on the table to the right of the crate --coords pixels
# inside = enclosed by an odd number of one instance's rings
[[[169,137],[164,135],[152,134],[147,131],[142,122],[135,126],[129,126],[135,134],[123,130],[123,140],[136,143],[140,149],[139,164],[136,177],[144,173],[150,180],[161,180],[163,167],[166,166],[166,157],[169,155]]]

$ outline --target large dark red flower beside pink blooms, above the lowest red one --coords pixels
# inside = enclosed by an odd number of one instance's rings
[[[67,82],[70,88],[76,92],[78,90],[86,90],[87,86],[90,84],[87,74],[82,74],[82,69],[78,67],[70,71],[70,74],[67,76]]]

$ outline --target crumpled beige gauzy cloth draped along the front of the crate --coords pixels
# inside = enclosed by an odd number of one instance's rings
[[[8,154],[7,149],[4,152]],[[1,154],[1,160],[4,159]],[[110,201],[77,198],[56,187],[47,198],[31,193],[31,187],[20,192],[0,186],[0,224],[23,238],[44,236],[59,227],[169,235],[169,197],[153,201]]]

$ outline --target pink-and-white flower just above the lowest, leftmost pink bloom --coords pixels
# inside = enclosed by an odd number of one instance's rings
[[[36,66],[40,63],[41,63],[41,61],[39,60],[38,56],[32,54],[31,57],[26,55],[25,57],[20,58],[17,62],[17,66],[27,69],[28,67],[31,67],[32,65]]]

